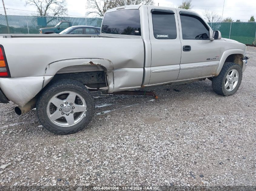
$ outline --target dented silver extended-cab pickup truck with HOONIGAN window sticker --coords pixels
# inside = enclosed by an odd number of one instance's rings
[[[234,94],[247,65],[246,46],[221,38],[195,12],[131,5],[108,10],[100,35],[2,35],[0,102],[56,134],[83,129],[94,115],[85,87],[108,93],[209,78]]]

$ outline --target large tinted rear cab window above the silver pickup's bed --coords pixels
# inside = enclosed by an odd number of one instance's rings
[[[101,32],[141,36],[140,11],[138,9],[127,9],[106,13]]]

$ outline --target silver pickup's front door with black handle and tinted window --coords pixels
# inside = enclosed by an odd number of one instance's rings
[[[195,13],[179,12],[181,64],[178,80],[208,77],[219,65],[221,42],[210,40],[208,25]]]

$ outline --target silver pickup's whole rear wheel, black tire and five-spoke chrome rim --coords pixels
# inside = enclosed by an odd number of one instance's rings
[[[94,99],[83,84],[64,79],[50,84],[36,104],[39,122],[47,130],[65,135],[83,129],[94,115]]]

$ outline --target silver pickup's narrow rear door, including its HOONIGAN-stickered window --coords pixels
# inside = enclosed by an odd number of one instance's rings
[[[175,8],[148,7],[151,42],[150,84],[163,84],[178,78],[181,60],[181,41]]]

